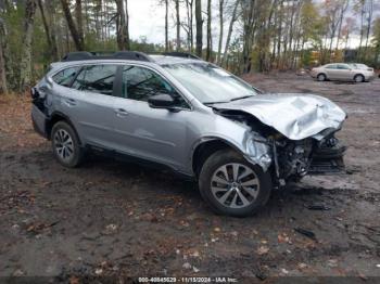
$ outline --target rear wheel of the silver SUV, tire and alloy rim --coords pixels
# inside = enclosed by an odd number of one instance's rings
[[[66,121],[56,122],[51,130],[51,145],[55,159],[64,167],[79,166],[84,157],[78,135]]]

